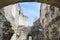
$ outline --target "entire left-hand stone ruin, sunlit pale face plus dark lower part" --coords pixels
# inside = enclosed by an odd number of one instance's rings
[[[19,4],[12,4],[12,5],[8,5],[4,8],[2,8],[0,10],[0,12],[2,14],[1,15],[1,20],[0,20],[0,26],[1,26],[1,29],[0,29],[0,34],[3,33],[3,29],[4,29],[4,34],[1,35],[1,40],[5,39],[5,40],[18,40],[19,38],[22,38],[22,37],[26,37],[26,34],[28,33],[27,31],[29,30],[28,28],[28,17],[24,16],[23,14],[21,14],[21,9],[19,8]],[[11,27],[9,28],[9,26],[6,26],[7,24],[9,23],[6,23],[6,25],[4,25],[6,22],[10,22],[11,24]],[[4,23],[4,24],[3,24]],[[19,25],[20,24],[20,25]],[[4,26],[3,26],[4,25]],[[3,29],[2,29],[2,26],[3,26]],[[23,32],[24,35],[20,34],[20,27],[22,26],[22,30],[24,30]],[[4,28],[5,27],[5,28]],[[27,28],[25,28],[27,27]],[[12,35],[10,33],[10,29],[13,29],[14,30],[14,34]],[[7,32],[5,32],[5,30]],[[22,32],[22,33],[23,33]],[[21,36],[20,36],[20,35]],[[20,40],[20,39],[19,39]]]

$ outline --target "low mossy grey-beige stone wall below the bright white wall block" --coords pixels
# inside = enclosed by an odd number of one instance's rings
[[[20,31],[19,31],[19,35],[18,35],[18,37],[19,37],[18,40],[26,40],[29,31],[30,31],[30,27],[20,26]]]

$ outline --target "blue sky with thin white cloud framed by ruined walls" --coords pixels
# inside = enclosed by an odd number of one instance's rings
[[[19,5],[21,7],[23,14],[28,17],[29,26],[32,26],[33,22],[39,18],[40,3],[24,2],[24,3],[19,3]]]

